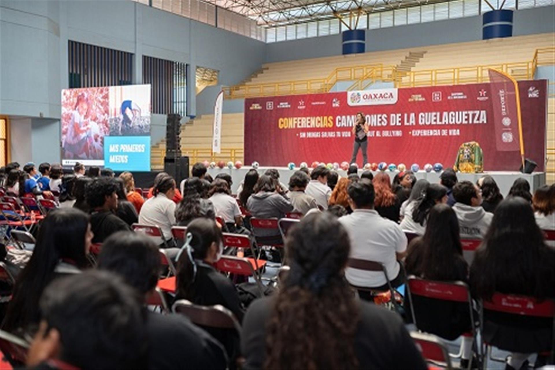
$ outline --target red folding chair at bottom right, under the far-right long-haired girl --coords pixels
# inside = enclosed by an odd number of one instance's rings
[[[552,342],[551,342],[551,360],[553,361],[553,356],[555,355],[555,300],[546,298],[545,300],[539,301],[534,297],[512,295],[504,293],[493,293],[491,301],[482,300],[481,311],[480,311],[480,325],[481,330],[484,330],[484,314],[493,312],[502,312],[507,315],[514,315],[515,317],[529,316],[529,317],[543,317],[551,318],[552,325]],[[522,327],[515,327],[516,330],[526,331]],[[539,345],[544,343],[538,343]],[[514,348],[502,348],[498,347],[497,343],[487,343],[482,341],[482,356],[486,353],[488,357],[493,361],[504,362],[504,358],[493,357],[491,354],[492,347],[497,347],[502,350],[507,350],[511,352],[519,352]],[[543,351],[544,348],[538,348],[537,352]],[[526,351],[523,351],[526,352]]]

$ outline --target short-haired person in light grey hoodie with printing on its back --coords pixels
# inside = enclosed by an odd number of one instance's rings
[[[453,186],[458,225],[463,239],[481,239],[490,227],[493,214],[486,212],[482,204],[482,191],[470,181],[461,181]]]

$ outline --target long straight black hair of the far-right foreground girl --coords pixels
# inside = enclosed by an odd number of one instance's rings
[[[545,244],[530,204],[507,197],[493,220],[470,269],[477,297],[491,298],[501,288],[537,298],[553,296],[555,253]],[[510,291],[507,291],[510,289]]]

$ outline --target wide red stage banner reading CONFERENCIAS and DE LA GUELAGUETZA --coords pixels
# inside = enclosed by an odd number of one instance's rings
[[[514,107],[509,115],[512,135],[503,135],[507,130],[501,126],[507,127],[508,121],[503,123],[502,117],[496,129],[494,109],[503,108],[494,85],[245,99],[245,163],[298,166],[302,161],[349,161],[354,142],[351,128],[361,111],[370,125],[369,162],[417,163],[420,168],[439,162],[450,167],[462,143],[477,141],[486,171],[516,171],[521,156]],[[518,90],[525,154],[536,161],[537,171],[544,171],[547,80],[520,81]],[[362,164],[360,153],[357,163]]]

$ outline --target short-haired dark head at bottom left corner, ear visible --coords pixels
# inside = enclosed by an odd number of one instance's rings
[[[136,297],[118,276],[103,271],[53,282],[41,298],[41,325],[27,368],[144,368],[147,334]]]

